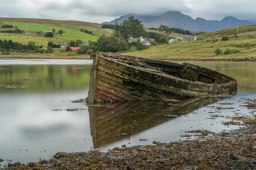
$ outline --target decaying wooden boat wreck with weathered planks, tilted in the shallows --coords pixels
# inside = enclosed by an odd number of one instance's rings
[[[173,100],[233,95],[235,79],[190,63],[97,52],[91,72],[93,99],[87,103]]]

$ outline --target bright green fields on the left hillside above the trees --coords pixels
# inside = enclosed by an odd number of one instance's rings
[[[44,19],[26,19],[26,18],[0,18],[0,26],[10,24],[13,27],[18,27],[24,33],[0,33],[0,39],[12,39],[22,44],[27,44],[29,41],[34,41],[38,46],[48,44],[48,41],[57,43],[68,43],[71,40],[80,39],[83,42],[96,41],[100,35],[111,35],[111,29],[101,29],[101,24],[79,21],[62,21],[62,20],[44,20]],[[28,27],[26,27],[26,25]],[[55,29],[55,37],[44,37],[38,32],[53,31]],[[92,35],[83,33],[80,30],[87,29],[92,31]],[[0,31],[3,29],[0,29]],[[6,29],[5,29],[6,30]],[[28,31],[26,35],[25,32]],[[63,35],[59,35],[58,31],[63,30]]]

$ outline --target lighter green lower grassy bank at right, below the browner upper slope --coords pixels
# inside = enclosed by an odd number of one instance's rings
[[[147,50],[127,52],[128,55],[169,60],[216,60],[216,61],[256,61],[256,39],[231,39],[229,41],[186,41],[162,46],[152,46]],[[219,48],[223,54],[216,55]],[[225,50],[236,51],[224,54]]]

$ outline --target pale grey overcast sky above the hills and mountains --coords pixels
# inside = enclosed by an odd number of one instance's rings
[[[0,17],[109,22],[125,14],[160,15],[169,10],[221,20],[256,20],[255,0],[0,0]]]

